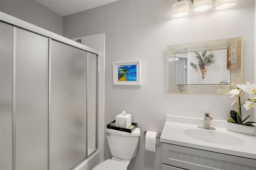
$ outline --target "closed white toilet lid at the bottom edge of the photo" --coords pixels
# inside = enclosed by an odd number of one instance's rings
[[[92,170],[127,170],[127,168],[122,162],[108,159],[95,166]]]

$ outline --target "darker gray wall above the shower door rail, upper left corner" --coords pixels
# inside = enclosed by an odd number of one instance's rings
[[[0,11],[63,36],[63,17],[34,0],[0,0]]]

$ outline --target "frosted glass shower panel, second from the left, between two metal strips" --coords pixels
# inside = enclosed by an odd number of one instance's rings
[[[17,170],[48,168],[48,41],[17,28],[14,73]]]

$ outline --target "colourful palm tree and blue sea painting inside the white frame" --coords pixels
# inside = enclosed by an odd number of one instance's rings
[[[118,65],[118,81],[137,81],[137,65]]]

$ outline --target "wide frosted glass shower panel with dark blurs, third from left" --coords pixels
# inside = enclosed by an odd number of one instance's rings
[[[68,170],[86,157],[87,52],[51,47],[50,169]]]

